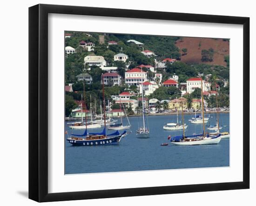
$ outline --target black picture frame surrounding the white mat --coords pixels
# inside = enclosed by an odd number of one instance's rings
[[[243,181],[48,193],[47,17],[49,13],[243,25]],[[249,188],[249,18],[45,4],[29,8],[29,199],[49,202],[246,188]]]

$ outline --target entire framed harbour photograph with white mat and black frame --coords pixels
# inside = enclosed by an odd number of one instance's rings
[[[249,188],[249,18],[29,8],[29,198]]]

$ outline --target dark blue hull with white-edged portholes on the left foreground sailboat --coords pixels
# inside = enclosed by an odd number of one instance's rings
[[[67,138],[67,142],[72,144],[73,146],[102,146],[102,145],[114,145],[118,144],[122,137],[125,134],[116,136],[116,137],[109,137],[100,140],[74,140],[72,138]]]

